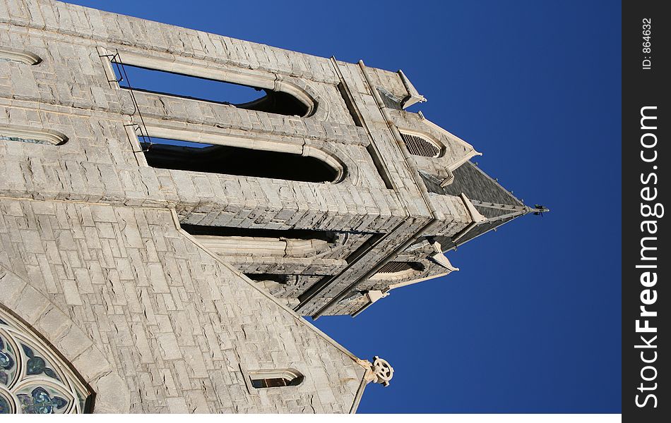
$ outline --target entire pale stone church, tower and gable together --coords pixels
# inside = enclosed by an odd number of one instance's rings
[[[299,316],[356,315],[545,211],[423,101],[401,71],[0,0],[0,412],[354,412],[393,369]]]

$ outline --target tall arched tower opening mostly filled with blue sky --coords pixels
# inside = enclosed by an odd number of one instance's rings
[[[215,80],[185,73],[160,71],[112,62],[119,87],[203,102],[227,104],[238,109],[285,116],[307,116],[309,107],[287,92]]]

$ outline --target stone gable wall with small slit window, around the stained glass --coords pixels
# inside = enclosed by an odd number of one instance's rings
[[[73,364],[96,412],[350,412],[364,376],[166,209],[0,200],[0,304]],[[245,383],[283,368],[304,382]]]

